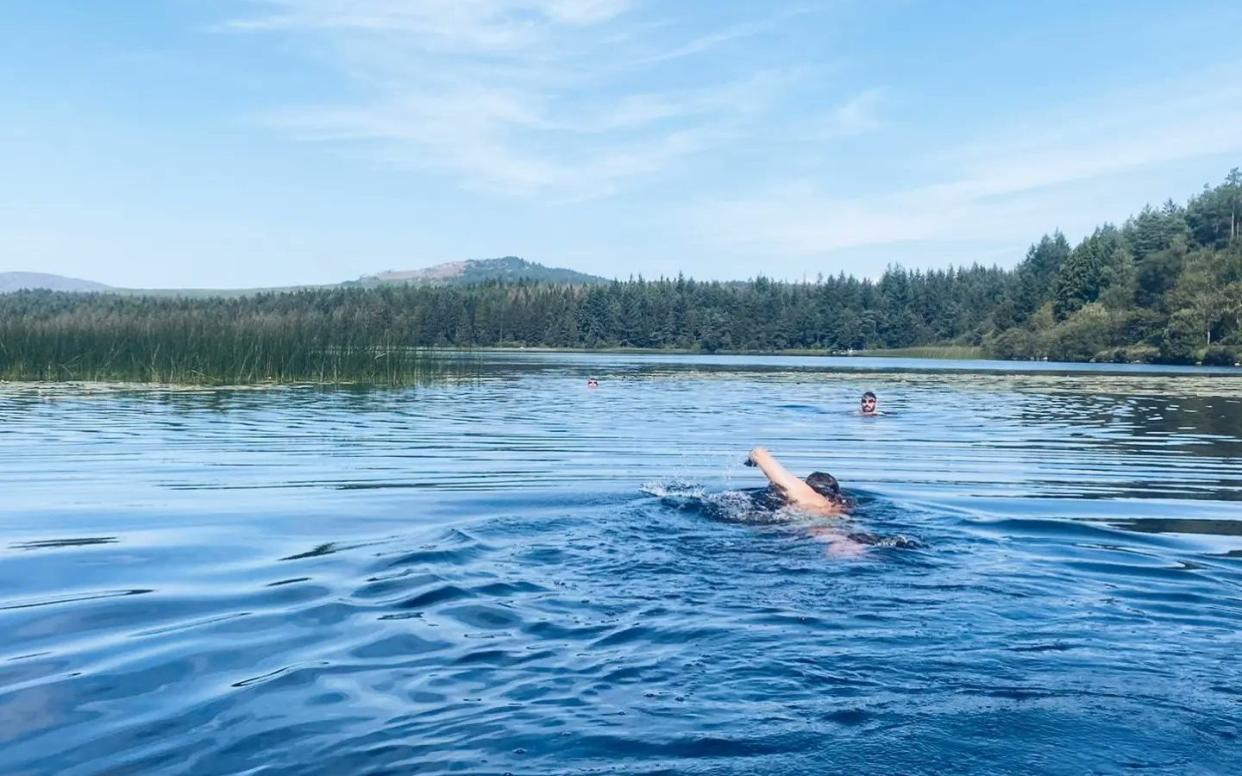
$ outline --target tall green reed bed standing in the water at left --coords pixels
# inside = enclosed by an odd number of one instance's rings
[[[0,379],[407,385],[463,368],[465,356],[433,354],[381,318],[337,312],[253,298],[9,294],[0,298]]]

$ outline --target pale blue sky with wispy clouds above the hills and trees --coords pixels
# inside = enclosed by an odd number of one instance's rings
[[[1242,165],[1242,4],[0,2],[0,271],[1012,266]]]

